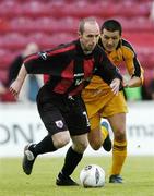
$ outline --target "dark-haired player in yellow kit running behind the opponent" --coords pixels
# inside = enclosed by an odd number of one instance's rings
[[[126,66],[130,79],[123,79],[123,87],[141,86],[143,70],[132,46],[121,37],[121,34],[122,27],[118,21],[105,21],[100,28],[99,46],[119,70]],[[100,126],[100,120],[106,118],[110,123],[114,144],[109,183],[122,183],[120,172],[127,157],[126,113],[128,112],[123,93],[120,91],[115,96],[100,77],[93,76],[82,96],[91,122],[88,142],[93,149],[97,150],[103,146],[107,151],[111,150],[109,133],[105,128],[105,123]]]

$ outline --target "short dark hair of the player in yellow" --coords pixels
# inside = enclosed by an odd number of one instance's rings
[[[103,23],[100,27],[100,32],[103,33],[103,29],[107,29],[109,32],[118,30],[120,36],[122,34],[122,26],[121,24],[116,20],[107,20]]]

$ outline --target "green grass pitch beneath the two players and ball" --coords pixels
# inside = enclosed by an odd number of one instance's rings
[[[99,164],[107,174],[100,188],[56,186],[63,159],[38,157],[28,176],[22,171],[21,158],[1,158],[0,196],[154,196],[154,157],[128,157],[122,170],[123,184],[108,183],[111,157],[84,157],[72,177],[80,183],[79,174],[84,166]]]

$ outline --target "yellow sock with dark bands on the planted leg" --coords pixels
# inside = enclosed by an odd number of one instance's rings
[[[127,157],[127,142],[118,143],[114,140],[111,175],[120,174]]]

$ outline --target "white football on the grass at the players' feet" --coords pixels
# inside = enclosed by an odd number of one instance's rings
[[[103,187],[105,185],[105,171],[96,164],[88,164],[80,172],[80,182],[83,187]]]

